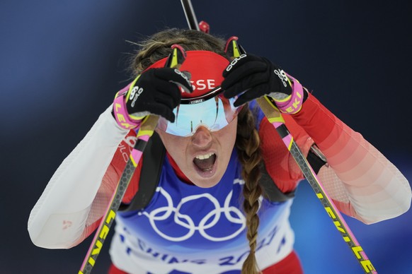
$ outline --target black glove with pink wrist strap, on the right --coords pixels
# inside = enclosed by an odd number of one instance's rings
[[[241,54],[223,72],[224,97],[239,96],[234,102],[239,107],[246,102],[269,95],[280,112],[296,114],[306,99],[302,85],[268,59]]]

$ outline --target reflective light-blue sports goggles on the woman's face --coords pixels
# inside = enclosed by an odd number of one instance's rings
[[[173,109],[175,121],[159,119],[158,129],[176,136],[191,136],[200,126],[218,131],[227,126],[239,113],[241,107],[234,107],[236,97],[227,99],[220,87],[194,98],[182,98],[181,105]]]

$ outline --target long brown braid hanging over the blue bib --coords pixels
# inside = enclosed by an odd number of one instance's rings
[[[246,214],[247,238],[250,246],[242,273],[255,274],[259,273],[256,264],[256,239],[258,237],[259,226],[259,198],[262,194],[261,185],[258,184],[261,179],[259,164],[261,163],[260,138],[255,128],[253,114],[247,105],[239,113],[237,124],[236,148],[238,149],[239,161],[241,162],[242,177],[244,178],[244,211]]]

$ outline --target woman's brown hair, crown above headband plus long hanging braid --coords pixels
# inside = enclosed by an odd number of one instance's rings
[[[140,49],[131,61],[133,73],[135,75],[142,73],[151,64],[168,56],[171,53],[172,44],[180,44],[185,50],[207,50],[230,59],[230,56],[224,53],[225,41],[219,37],[196,30],[169,29],[158,32],[138,44]],[[246,105],[241,109],[238,117],[235,145],[243,167],[244,212],[246,213],[247,238],[251,249],[246,261],[244,261],[242,273],[255,274],[259,273],[255,252],[259,226],[257,211],[262,193],[261,186],[258,184],[261,177],[259,171],[261,162],[260,139],[258,131],[255,129],[253,114]]]

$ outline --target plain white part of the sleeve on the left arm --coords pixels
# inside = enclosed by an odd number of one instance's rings
[[[28,232],[35,245],[69,248],[81,237],[103,175],[129,132],[118,126],[111,109],[108,107],[100,115],[64,159],[32,209]]]

